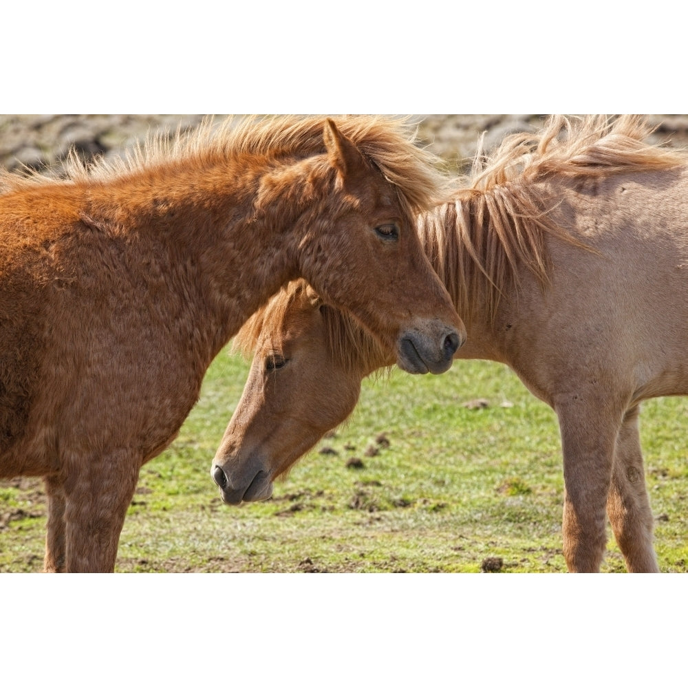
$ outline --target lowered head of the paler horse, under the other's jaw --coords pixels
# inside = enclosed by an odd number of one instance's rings
[[[235,345],[255,356],[211,471],[227,504],[270,497],[272,481],[354,410],[361,380],[394,363],[301,280],[255,314]]]

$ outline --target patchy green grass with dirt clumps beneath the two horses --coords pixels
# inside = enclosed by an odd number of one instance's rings
[[[117,571],[478,572],[490,559],[504,572],[566,570],[556,419],[506,367],[458,361],[442,376],[365,380],[354,416],[272,499],[230,507],[209,471],[247,369],[223,352],[178,440],[143,466]],[[465,406],[477,399],[486,405]],[[688,570],[687,416],[684,398],[641,413],[663,571]],[[0,483],[0,571],[39,571],[42,485],[16,483]],[[603,571],[623,570],[610,535]]]

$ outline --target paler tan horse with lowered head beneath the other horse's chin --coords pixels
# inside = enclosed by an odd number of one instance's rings
[[[466,323],[456,356],[505,363],[557,413],[571,571],[599,570],[605,510],[627,569],[658,570],[638,408],[688,393],[688,156],[649,133],[636,116],[550,118],[479,153],[418,221]],[[299,282],[235,344],[255,358],[214,465],[240,484],[286,471],[394,360]]]

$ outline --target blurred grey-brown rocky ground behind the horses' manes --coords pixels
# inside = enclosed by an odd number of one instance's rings
[[[7,169],[22,165],[59,169],[74,147],[88,159],[115,155],[159,129],[197,126],[202,115],[0,115],[0,164]],[[486,148],[513,131],[537,128],[544,115],[416,115],[420,138],[434,152],[466,169],[475,153],[477,138],[486,131]],[[688,115],[650,115],[657,125],[654,140],[670,140],[688,147]]]

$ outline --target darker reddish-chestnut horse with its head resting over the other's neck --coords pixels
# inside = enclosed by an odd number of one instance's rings
[[[464,327],[415,228],[435,162],[400,120],[248,118],[0,175],[0,477],[45,476],[45,570],[114,570],[140,467],[288,281],[403,369],[449,368]]]

